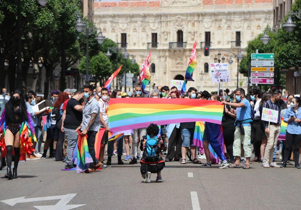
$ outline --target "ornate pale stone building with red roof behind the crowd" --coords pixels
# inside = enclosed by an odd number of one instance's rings
[[[243,55],[248,41],[273,26],[272,0],[161,0],[161,1],[94,1],[94,22],[103,35],[119,47],[127,48],[141,65],[152,52],[151,85],[170,86],[171,79],[183,79],[191,48],[197,41],[195,82],[187,88],[216,91],[212,83],[210,63],[214,58],[228,63],[230,82],[225,88],[237,86],[237,58]],[[204,46],[210,46],[204,56]],[[130,57],[130,58],[131,58]],[[225,59],[222,59],[225,58]],[[218,61],[217,61],[218,62]],[[238,86],[246,88],[247,78],[239,74]]]

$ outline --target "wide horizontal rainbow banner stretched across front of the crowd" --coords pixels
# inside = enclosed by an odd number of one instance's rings
[[[222,124],[223,106],[218,101],[175,98],[111,98],[110,131],[146,128],[151,123],[205,121]]]

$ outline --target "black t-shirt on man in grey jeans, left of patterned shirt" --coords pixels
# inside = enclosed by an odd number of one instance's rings
[[[75,130],[82,123],[82,112],[74,109],[76,105],[81,104],[74,98],[70,98],[67,102],[64,128]]]

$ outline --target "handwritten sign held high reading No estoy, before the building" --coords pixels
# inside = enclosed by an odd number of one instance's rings
[[[210,63],[210,72],[213,83],[230,82],[228,64]]]

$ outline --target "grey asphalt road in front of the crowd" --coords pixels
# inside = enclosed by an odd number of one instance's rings
[[[300,209],[295,196],[300,192],[301,170],[293,166],[265,169],[252,163],[250,170],[219,165],[204,169],[169,162],[162,183],[156,183],[152,174],[152,182],[145,184],[140,164],[128,162],[116,165],[114,156],[112,168],[90,174],[61,171],[64,163],[50,158],[20,162],[18,179],[6,180],[6,168],[0,171],[0,209]],[[24,196],[13,206],[3,202]]]

